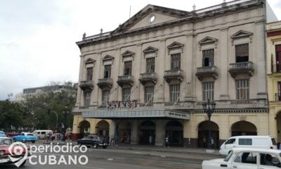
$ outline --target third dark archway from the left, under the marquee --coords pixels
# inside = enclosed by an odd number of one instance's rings
[[[119,142],[130,143],[131,142],[131,123],[129,121],[121,121],[118,124]]]

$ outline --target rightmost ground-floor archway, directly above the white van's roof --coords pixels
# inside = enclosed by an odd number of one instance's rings
[[[239,121],[231,126],[231,136],[257,135],[256,126],[247,121]]]

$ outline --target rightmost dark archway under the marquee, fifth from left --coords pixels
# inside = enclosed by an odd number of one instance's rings
[[[165,130],[165,136],[169,136],[169,146],[183,146],[183,125],[180,122],[169,121]]]

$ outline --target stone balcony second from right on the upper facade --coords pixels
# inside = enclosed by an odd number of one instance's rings
[[[218,68],[214,65],[197,68],[196,76],[199,80],[203,80],[204,77],[213,77],[216,80],[218,78]]]

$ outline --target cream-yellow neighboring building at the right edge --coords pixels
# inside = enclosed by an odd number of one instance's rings
[[[269,134],[281,142],[281,21],[266,24]]]

